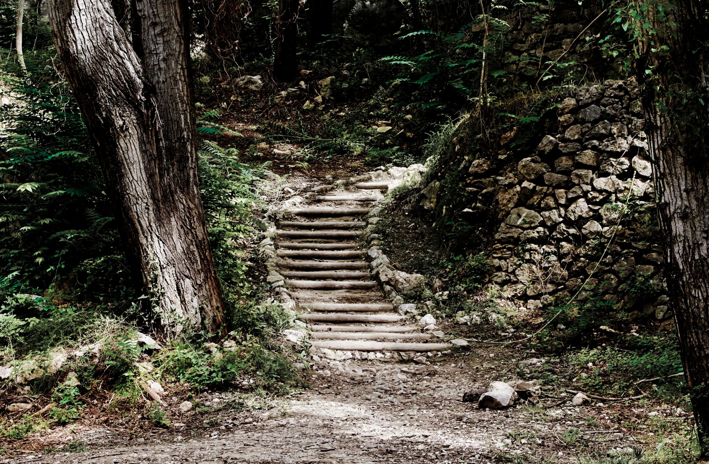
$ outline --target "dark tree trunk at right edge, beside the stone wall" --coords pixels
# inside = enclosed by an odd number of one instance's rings
[[[709,101],[703,60],[709,21],[700,2],[676,1],[669,21],[648,9],[641,38],[645,132],[653,164],[666,278],[703,454],[709,454]],[[642,23],[642,21],[641,21]],[[642,25],[639,30],[644,30]],[[651,43],[652,40],[652,43]],[[667,45],[669,50],[663,50]],[[650,69],[651,72],[645,72]]]

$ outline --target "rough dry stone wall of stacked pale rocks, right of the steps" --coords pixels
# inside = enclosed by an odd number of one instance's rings
[[[557,131],[533,152],[510,159],[502,149],[470,163],[469,210],[492,208],[499,220],[489,285],[520,306],[575,296],[671,317],[637,97],[632,80],[576,89],[558,108]]]

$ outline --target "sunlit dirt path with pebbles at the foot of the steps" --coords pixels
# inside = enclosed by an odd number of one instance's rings
[[[507,361],[485,363],[490,354]],[[608,409],[589,427],[584,419],[598,416],[598,408],[522,403],[480,410],[462,402],[470,385],[500,378],[509,356],[514,353],[459,353],[429,358],[428,365],[323,361],[313,366],[311,389],[264,413],[226,411],[229,419],[206,431],[176,427],[168,438],[134,446],[12,462],[535,463],[553,457],[550,462],[576,463],[578,449],[564,441],[570,428],[583,433],[577,443],[592,443],[596,451],[640,444],[610,424],[599,425],[614,414]]]

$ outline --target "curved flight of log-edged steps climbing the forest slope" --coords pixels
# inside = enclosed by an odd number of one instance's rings
[[[345,191],[320,186],[300,208],[281,211],[274,237],[277,273],[311,332],[312,346],[370,352],[451,346],[417,332],[369,273],[367,215],[388,186],[388,181],[355,183]]]

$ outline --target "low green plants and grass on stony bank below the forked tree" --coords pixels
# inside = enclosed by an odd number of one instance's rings
[[[275,304],[240,307],[238,312],[254,328],[247,334],[232,332],[221,344],[159,346],[134,324],[79,310],[62,319],[67,329],[77,332],[71,337],[52,332],[55,343],[40,353],[31,343],[38,336],[33,329],[51,330],[41,323],[29,327],[13,339],[16,360],[9,363],[10,378],[0,385],[3,407],[28,404],[31,409],[0,418],[0,441],[13,448],[16,441],[26,441],[23,447],[33,447],[39,432],[79,421],[94,423],[97,417],[114,427],[130,422],[143,430],[169,428],[191,420],[179,411],[184,401],[192,403],[202,421],[225,407],[201,405],[213,392],[230,395],[231,406],[246,409],[300,385],[293,363],[302,360],[303,353],[285,349],[273,338],[291,323],[292,315]],[[155,383],[162,404],[148,395],[146,385],[155,390]],[[27,414],[30,411],[36,414]]]

